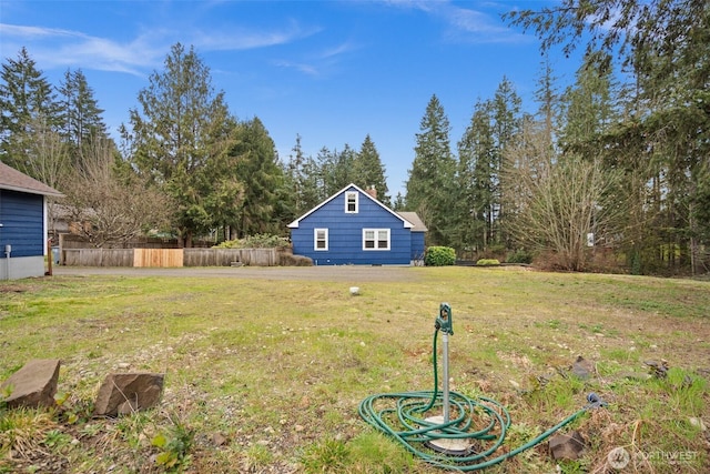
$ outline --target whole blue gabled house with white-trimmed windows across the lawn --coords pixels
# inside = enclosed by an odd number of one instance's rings
[[[315,265],[409,265],[424,258],[426,228],[396,213],[374,189],[348,184],[288,224],[295,255]]]

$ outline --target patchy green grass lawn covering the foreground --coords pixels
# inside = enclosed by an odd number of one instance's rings
[[[374,271],[374,270],[373,270]],[[704,473],[710,465],[710,282],[524,269],[407,268],[400,281],[60,275],[0,282],[0,381],[60,359],[58,407],[0,402],[0,473],[435,473],[358,415],[376,393],[433,389],[432,336],[453,309],[452,390],[513,417],[486,472]],[[357,285],[359,295],[351,295]],[[592,375],[576,377],[577,356]],[[668,362],[665,377],[648,361]],[[111,372],[165,374],[159,407],[94,418]],[[0,394],[0,400],[2,394]]]

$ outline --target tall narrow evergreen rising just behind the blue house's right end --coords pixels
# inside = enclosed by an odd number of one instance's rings
[[[416,134],[415,157],[406,183],[407,209],[419,214],[429,245],[452,241],[450,209],[455,202],[456,162],[449,144],[450,125],[438,98],[432,95]]]

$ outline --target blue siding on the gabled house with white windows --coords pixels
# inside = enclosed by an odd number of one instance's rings
[[[314,250],[314,229],[328,230],[328,250]],[[363,250],[363,229],[389,229],[389,250]],[[358,212],[345,212],[342,192],[292,229],[293,252],[313,259],[316,265],[409,264],[412,231],[397,215],[359,193]]]

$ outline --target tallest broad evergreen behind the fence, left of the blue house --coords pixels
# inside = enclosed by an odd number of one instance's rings
[[[230,177],[221,181],[226,190],[214,188],[236,159],[230,151],[237,125],[224,92],[214,93],[210,70],[193,48],[185,51],[180,43],[173,46],[164,65],[139,92],[141,110],[130,111],[132,131],[122,128],[122,135],[132,147],[136,169],[175,201],[173,225],[181,243],[192,246],[195,235],[215,224],[215,202],[229,209],[237,204],[243,189],[239,180]],[[213,191],[230,199],[214,199]]]

